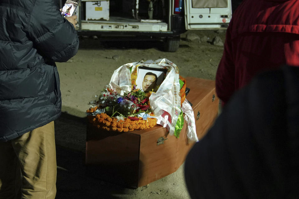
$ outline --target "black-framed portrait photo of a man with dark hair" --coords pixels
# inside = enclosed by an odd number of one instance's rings
[[[167,70],[139,66],[137,70],[136,88],[145,93],[156,92],[166,77]]]

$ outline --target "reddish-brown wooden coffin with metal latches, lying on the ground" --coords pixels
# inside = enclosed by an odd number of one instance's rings
[[[197,136],[201,139],[218,115],[215,81],[187,77],[186,99],[192,103]],[[167,138],[167,140],[165,140]],[[87,125],[88,173],[126,187],[137,188],[175,172],[194,142],[188,142],[186,124],[180,138],[156,125],[145,130],[111,132]]]

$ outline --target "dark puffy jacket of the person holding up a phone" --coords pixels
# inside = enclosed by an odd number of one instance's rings
[[[0,141],[59,117],[55,61],[69,60],[78,45],[54,0],[0,0]]]

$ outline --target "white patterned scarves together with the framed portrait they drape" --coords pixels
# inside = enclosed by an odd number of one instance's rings
[[[156,79],[155,85],[144,85],[144,82],[149,82],[153,76],[155,76],[153,79]],[[157,82],[159,78],[160,82]],[[198,141],[194,115],[192,115],[193,110],[189,104],[183,103],[181,105],[179,70],[171,61],[159,59],[123,65],[114,71],[109,86],[119,94],[130,92],[133,86],[137,86],[145,93],[150,94],[150,108],[157,118],[157,124],[168,128],[170,135],[174,135],[177,129],[182,107],[183,112],[184,110],[188,112],[185,115],[188,125],[187,137],[190,140]]]

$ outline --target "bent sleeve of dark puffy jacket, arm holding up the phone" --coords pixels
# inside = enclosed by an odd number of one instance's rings
[[[36,0],[28,33],[39,53],[52,61],[68,61],[78,51],[77,31],[53,0]]]

